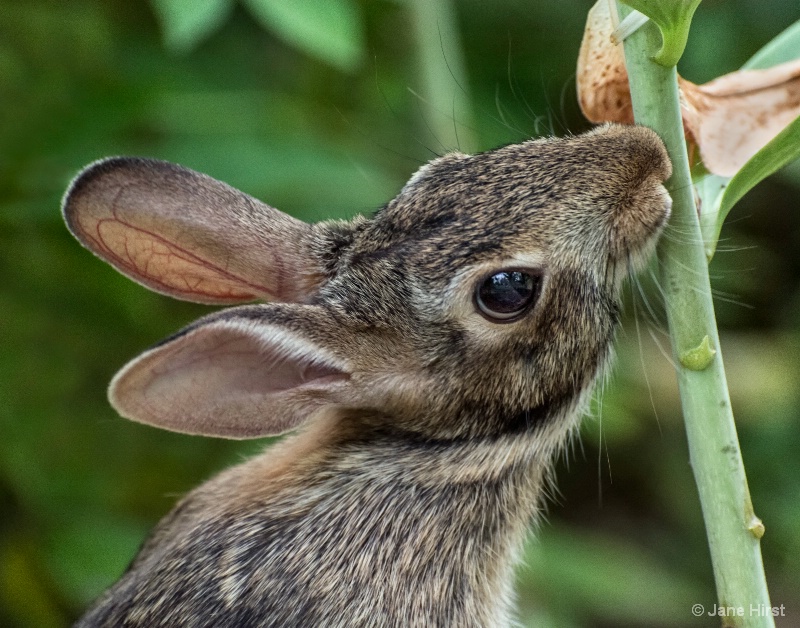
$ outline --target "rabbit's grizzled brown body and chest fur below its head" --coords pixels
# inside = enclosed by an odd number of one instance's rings
[[[513,565],[569,424],[543,426],[549,446],[320,448],[311,430],[190,493],[84,625],[509,625]]]

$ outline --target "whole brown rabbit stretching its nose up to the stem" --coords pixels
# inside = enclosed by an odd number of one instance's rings
[[[181,166],[88,166],[63,202],[83,245],[152,290],[238,304],[125,366],[114,408],[293,434],[181,499],[76,625],[510,625],[670,174],[653,131],[607,125],[446,154],[371,218],[309,225]]]

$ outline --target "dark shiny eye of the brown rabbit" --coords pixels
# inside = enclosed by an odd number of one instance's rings
[[[522,316],[536,300],[539,274],[501,270],[484,278],[475,290],[475,304],[489,320],[507,323]]]

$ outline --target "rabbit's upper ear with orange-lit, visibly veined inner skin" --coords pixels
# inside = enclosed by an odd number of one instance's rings
[[[179,299],[300,301],[321,281],[308,252],[309,225],[167,162],[94,163],[70,185],[63,211],[84,246]]]

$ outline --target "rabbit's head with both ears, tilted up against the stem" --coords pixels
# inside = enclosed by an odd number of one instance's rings
[[[128,364],[118,411],[233,438],[322,408],[382,432],[463,439],[536,429],[574,407],[610,350],[622,279],[669,215],[670,163],[641,127],[606,126],[419,170],[370,219],[306,225],[183,168],[90,166],[75,235],[148,287],[243,303]]]

